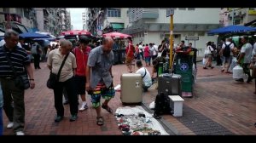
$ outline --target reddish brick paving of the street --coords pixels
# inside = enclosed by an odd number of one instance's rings
[[[79,112],[77,121],[69,122],[70,113],[67,105],[65,106],[64,120],[61,123],[55,123],[54,95],[53,91],[45,86],[49,76],[49,70],[45,65],[45,63],[41,63],[42,69],[34,72],[36,88],[26,90],[26,134],[122,134],[118,129],[115,117],[105,110],[102,110],[105,124],[102,127],[96,125],[96,112],[91,108],[88,95],[89,109]],[[151,68],[148,67],[149,72],[151,72]],[[232,134],[256,134],[256,129],[253,126],[256,122],[254,83],[235,83],[231,74],[221,73],[219,69],[216,66],[213,70],[203,70],[202,66],[198,66],[195,96],[184,99],[184,106],[187,108],[183,108],[183,110],[193,109],[202,117],[210,118],[212,122]],[[120,75],[126,71],[125,65],[113,66],[114,85],[120,83]],[[153,101],[156,94],[157,90],[153,86],[148,93],[144,94],[145,104],[148,105]],[[109,106],[114,111],[122,106],[119,92],[110,101]],[[6,126],[7,117],[4,113],[3,115]],[[194,128],[180,122],[181,118],[165,115],[164,119],[177,129],[177,134],[197,133]],[[191,120],[193,119],[191,118]],[[4,134],[13,134],[12,129],[5,127]]]

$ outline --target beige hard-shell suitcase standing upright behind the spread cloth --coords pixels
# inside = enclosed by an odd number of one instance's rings
[[[143,102],[143,77],[141,74],[122,74],[120,99],[122,103]]]

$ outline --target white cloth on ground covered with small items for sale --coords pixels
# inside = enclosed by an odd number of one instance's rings
[[[119,107],[115,112],[119,129],[126,135],[167,135],[166,130],[142,106]]]

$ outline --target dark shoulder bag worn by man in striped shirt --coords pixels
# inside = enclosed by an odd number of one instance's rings
[[[12,61],[9,59],[9,55],[6,54],[4,48],[3,48],[3,52],[6,56],[6,59],[9,62],[9,66],[11,67],[12,71],[14,72],[14,76],[15,76],[15,87],[19,88],[19,89],[28,89],[30,87],[30,83],[27,77],[27,73],[25,72],[25,74],[23,75],[18,75],[17,72],[15,72],[15,68],[12,64]]]

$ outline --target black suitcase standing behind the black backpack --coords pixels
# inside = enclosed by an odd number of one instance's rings
[[[181,75],[164,73],[158,77],[158,94],[182,96]]]

